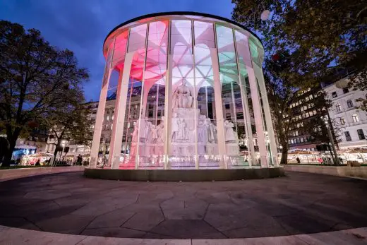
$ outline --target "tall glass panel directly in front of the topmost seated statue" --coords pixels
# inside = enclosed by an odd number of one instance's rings
[[[172,20],[172,127],[169,168],[195,167],[195,84],[191,20]]]

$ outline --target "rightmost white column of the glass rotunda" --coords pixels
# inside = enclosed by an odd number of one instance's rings
[[[260,87],[261,97],[263,98],[263,106],[264,106],[264,114],[265,114],[265,122],[267,127],[267,136],[270,141],[270,152],[272,155],[272,162],[274,167],[278,167],[278,157],[277,157],[277,144],[275,143],[275,135],[274,129],[272,126],[272,116],[269,107],[269,101],[267,100],[267,91],[265,88],[265,80],[263,75],[263,70],[254,64],[255,76],[258,78],[258,83]]]

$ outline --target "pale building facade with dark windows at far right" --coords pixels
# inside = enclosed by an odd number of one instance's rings
[[[359,98],[367,97],[366,91],[351,90],[348,88],[348,78],[342,78],[335,83],[325,85],[324,90],[332,102],[329,109],[330,119],[333,119],[339,128],[339,148],[366,148],[367,147],[367,113],[359,109]]]

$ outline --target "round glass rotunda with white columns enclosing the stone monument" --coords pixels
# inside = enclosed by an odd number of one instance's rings
[[[156,13],[114,28],[103,54],[91,168],[277,167],[263,45],[243,26],[203,13]]]

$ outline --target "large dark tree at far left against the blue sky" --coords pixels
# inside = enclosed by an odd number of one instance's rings
[[[28,122],[76,102],[85,80],[88,71],[78,67],[73,52],[52,47],[38,30],[0,21],[0,126],[9,143],[5,165]]]

